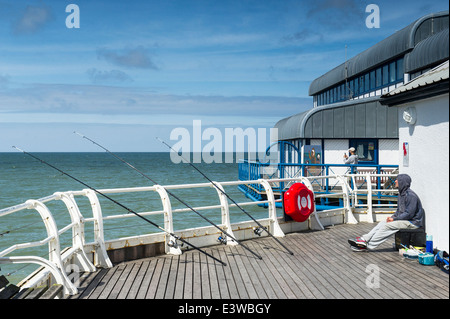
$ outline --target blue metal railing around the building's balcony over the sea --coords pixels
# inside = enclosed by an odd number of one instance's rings
[[[329,175],[346,175],[346,174],[360,174],[360,178],[350,180],[350,186],[362,189],[367,188],[369,182],[365,177],[366,174],[383,175],[370,179],[373,188],[382,189],[388,188],[394,184],[395,177],[388,174],[395,174],[398,170],[398,165],[371,165],[371,164],[295,164],[295,163],[276,163],[267,164],[255,161],[241,160],[239,162],[239,179],[257,180],[276,179],[276,178],[292,178],[298,176],[310,177],[311,184],[317,194],[331,194],[335,191],[336,184],[330,184],[329,179],[314,179],[314,176],[329,176]],[[354,185],[353,183],[356,183]],[[287,190],[290,185],[284,182],[279,182],[272,185],[273,191],[281,194]],[[255,200],[263,198],[264,189],[259,184],[241,185],[240,189],[249,197]],[[379,193],[378,196],[381,196]]]

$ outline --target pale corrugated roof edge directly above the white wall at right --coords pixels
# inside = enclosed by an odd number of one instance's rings
[[[382,104],[398,105],[411,100],[423,99],[448,93],[449,61],[431,69],[395,90],[381,96]]]

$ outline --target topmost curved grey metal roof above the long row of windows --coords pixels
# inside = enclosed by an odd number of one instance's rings
[[[330,88],[345,78],[350,78],[365,72],[368,69],[374,68],[383,64],[384,62],[405,55],[413,51],[421,41],[440,33],[443,30],[448,30],[448,11],[428,14],[400,31],[397,31],[390,37],[378,42],[369,49],[361,52],[347,62],[342,63],[336,68],[330,70],[319,78],[315,79],[309,87],[309,95],[315,95],[327,88]],[[443,38],[435,38],[434,41],[442,40]],[[434,43],[433,43],[434,44]],[[429,65],[432,62],[440,62],[441,55],[444,58],[449,57],[448,51],[448,31],[447,31],[447,50],[445,46],[436,46],[435,50],[439,53],[425,56],[424,63]],[[421,64],[421,58],[424,54],[428,54],[426,46],[419,47],[419,50],[411,57],[411,64],[409,68],[422,68],[426,65]],[[440,60],[436,61],[435,58]],[[414,62],[414,63],[413,63]]]

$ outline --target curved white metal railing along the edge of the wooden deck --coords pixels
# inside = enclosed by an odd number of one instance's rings
[[[383,175],[385,176],[385,175]],[[370,180],[373,177],[373,174],[366,174],[366,178]],[[346,223],[357,223],[357,220],[352,214],[352,210],[356,207],[357,196],[362,192],[367,193],[367,207],[368,212],[370,214],[369,219],[372,218],[372,201],[371,195],[372,192],[379,191],[387,191],[372,189],[370,184],[366,190],[360,190],[357,188],[351,188],[349,186],[348,180],[356,178],[356,175],[345,175],[345,176],[313,176],[313,177],[295,177],[295,178],[283,178],[283,179],[258,179],[258,180],[247,180],[247,181],[229,181],[229,182],[214,182],[219,188],[224,190],[225,186],[238,186],[242,184],[259,184],[265,190],[266,200],[261,201],[246,201],[237,203],[237,205],[244,207],[249,205],[261,205],[267,204],[268,207],[268,219],[269,230],[276,237],[283,237],[284,233],[278,223],[277,211],[276,211],[276,203],[281,202],[281,199],[275,199],[275,195],[273,192],[273,185],[278,185],[280,182],[290,182],[290,181],[298,181],[304,183],[311,191],[313,190],[313,186],[310,182],[310,179],[334,179],[337,183],[339,183],[341,187],[340,192],[333,193],[333,196],[340,196],[343,199],[343,207],[339,209],[330,209],[321,212],[315,211],[313,216],[319,227],[323,229],[323,226],[319,220],[318,215],[321,213],[326,213],[330,211],[338,211],[345,216],[344,222]],[[354,183],[356,185],[356,183]],[[173,209],[171,205],[170,198],[166,190],[179,190],[179,189],[196,189],[196,188],[215,188],[212,183],[198,183],[198,184],[181,184],[181,185],[168,185],[168,186],[149,186],[149,187],[134,187],[134,188],[116,188],[116,189],[101,189],[98,192],[102,194],[120,194],[120,193],[138,193],[138,192],[156,192],[159,194],[160,200],[162,202],[163,209],[157,211],[143,211],[137,212],[141,216],[152,216],[152,215],[163,215],[164,216],[164,229],[167,231],[165,236],[165,252],[168,254],[181,254],[181,250],[178,247],[174,247],[169,243],[173,238],[168,233],[174,233],[173,228],[173,214],[174,213],[185,213],[190,211],[190,208],[178,208]],[[230,208],[236,207],[236,204],[230,204],[228,202],[228,198],[222,191],[216,189],[217,196],[219,198],[218,205],[209,205],[209,206],[200,206],[193,207],[196,211],[202,210],[211,210],[211,209],[220,209],[221,212],[221,224],[219,225],[224,230],[227,231],[231,236],[234,237],[231,227],[230,221]],[[316,198],[327,196],[325,194],[318,194]],[[328,194],[330,196],[330,194]],[[76,198],[78,197],[86,197],[89,200],[90,208],[92,211],[91,218],[85,218],[81,213],[79,206],[77,204]],[[64,226],[61,229],[58,229],[55,219],[47,207],[46,203],[52,201],[62,201],[67,208],[67,212],[70,215],[71,222]],[[353,202],[353,205],[352,205]],[[99,201],[99,194],[96,191],[91,189],[85,189],[81,191],[70,191],[70,192],[57,192],[53,195],[38,199],[38,200],[28,200],[23,204],[12,206],[9,208],[5,208],[0,210],[0,218],[2,216],[10,215],[22,210],[26,209],[34,209],[36,210],[42,219],[42,222],[45,225],[47,237],[34,242],[28,243],[17,243],[14,244],[3,251],[0,251],[0,264],[6,263],[32,263],[38,264],[44,267],[44,270],[47,273],[51,273],[55,281],[59,284],[62,284],[64,287],[65,294],[76,294],[78,292],[77,287],[71,282],[68,277],[68,264],[76,263],[77,269],[82,272],[92,272],[95,271],[96,267],[112,267],[112,263],[108,257],[107,249],[105,245],[105,234],[103,223],[105,220],[111,219],[126,219],[135,217],[134,214],[116,214],[105,216],[102,212],[102,208]],[[86,223],[93,223],[94,225],[94,234],[93,234],[93,243],[89,243],[95,247],[95,253],[93,260],[91,261],[86,253],[84,248],[86,247],[85,242],[85,225]],[[67,249],[61,249],[60,236],[68,231],[72,231],[72,243],[71,246]],[[180,231],[180,230],[178,230]],[[236,244],[235,242],[228,240],[228,244]],[[15,252],[20,249],[37,247],[37,246],[45,246],[48,245],[49,255],[48,258],[38,257],[38,256],[8,256],[12,252]],[[29,283],[32,285],[32,282]]]

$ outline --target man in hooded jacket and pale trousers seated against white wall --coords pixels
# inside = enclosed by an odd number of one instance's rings
[[[386,221],[381,221],[368,234],[349,239],[348,243],[354,251],[374,249],[400,229],[423,227],[424,210],[417,194],[409,188],[410,185],[409,175],[398,175],[395,181],[398,188],[397,211]]]

